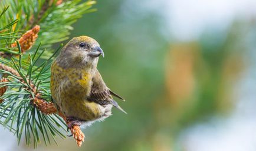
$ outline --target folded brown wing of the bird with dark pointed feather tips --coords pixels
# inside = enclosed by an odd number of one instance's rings
[[[114,94],[114,96],[117,96],[117,98],[121,97],[119,95],[116,95],[116,93],[111,92],[111,90],[107,88],[99,71],[96,71],[96,74],[94,75],[92,81],[93,85],[91,86],[91,92],[89,97],[87,98],[88,100],[99,103],[100,105],[112,104],[117,109],[120,109],[122,110],[122,112],[126,113],[112,98],[111,94]]]

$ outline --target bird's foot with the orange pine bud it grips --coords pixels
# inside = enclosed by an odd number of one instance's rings
[[[84,133],[81,131],[81,129],[79,127],[82,123],[83,122],[81,122],[80,120],[74,120],[74,119],[71,119],[71,118],[67,118],[68,129],[70,129],[70,131],[72,133],[72,136],[76,140],[77,145],[79,147],[84,142]]]

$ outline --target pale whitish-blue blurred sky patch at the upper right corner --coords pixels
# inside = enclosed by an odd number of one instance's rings
[[[226,28],[235,18],[256,16],[255,0],[161,0],[171,34],[190,41],[205,28]]]

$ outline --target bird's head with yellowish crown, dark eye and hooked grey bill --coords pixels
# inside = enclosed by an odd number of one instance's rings
[[[100,55],[104,57],[104,52],[95,39],[88,36],[78,36],[64,46],[58,59],[71,66],[96,66]]]

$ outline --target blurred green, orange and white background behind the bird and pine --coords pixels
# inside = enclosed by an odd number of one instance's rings
[[[57,138],[37,150],[255,151],[256,1],[109,0],[71,36],[100,42],[99,71],[122,95],[81,148]],[[61,17],[61,16],[60,16]],[[0,150],[34,150],[1,129]]]

